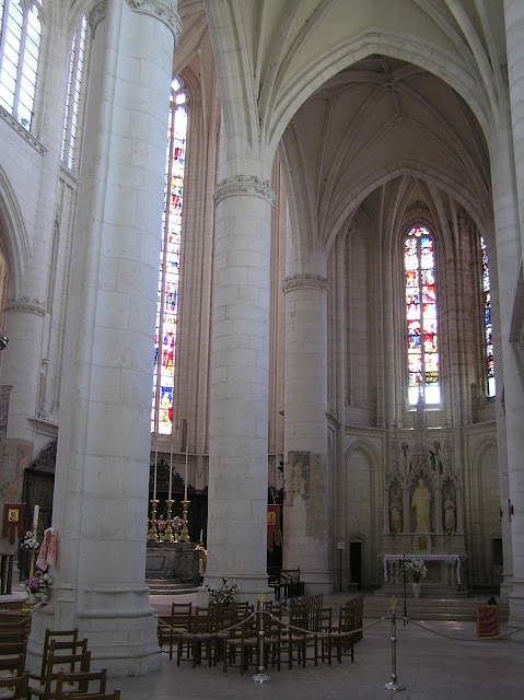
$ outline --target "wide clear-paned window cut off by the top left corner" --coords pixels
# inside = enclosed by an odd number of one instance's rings
[[[44,0],[0,0],[0,105],[26,129],[33,119],[43,5]]]

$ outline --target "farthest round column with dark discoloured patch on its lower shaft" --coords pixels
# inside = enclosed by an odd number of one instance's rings
[[[310,593],[329,592],[327,280],[288,277],[286,294],[284,568],[300,567]]]

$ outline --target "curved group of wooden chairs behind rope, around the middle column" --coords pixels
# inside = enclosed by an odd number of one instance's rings
[[[260,658],[259,617],[247,603],[211,604],[207,608],[191,603],[173,603],[171,615],[159,618],[159,644],[177,665],[188,661],[193,667],[221,663],[223,670],[237,667],[244,673],[249,665],[270,663],[280,669],[293,664],[305,666],[341,663],[349,654],[354,660],[354,643],[361,637],[362,602],[350,599],[340,607],[338,620],[333,608],[323,605],[323,595],[306,596],[289,606],[283,616],[278,604],[266,603],[263,653]],[[360,616],[360,617],[359,617]],[[361,634],[361,632],[360,632]]]

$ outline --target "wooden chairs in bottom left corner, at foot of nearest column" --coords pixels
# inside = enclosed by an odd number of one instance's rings
[[[8,637],[8,627],[0,619],[0,640]],[[0,641],[0,700],[120,700],[120,689],[106,691],[107,668],[91,670],[91,652],[88,640],[79,639],[78,628],[46,630],[39,670],[25,669],[25,653],[30,628],[25,629],[23,651],[9,656],[10,648],[2,649]],[[14,628],[11,629],[14,644]],[[22,633],[19,630],[19,635]],[[22,646],[20,648],[22,650]],[[1,652],[5,654],[1,655]]]

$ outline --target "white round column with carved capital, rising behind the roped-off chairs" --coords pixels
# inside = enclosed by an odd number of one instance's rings
[[[238,599],[267,585],[269,261],[275,194],[256,177],[216,189],[208,567]]]

